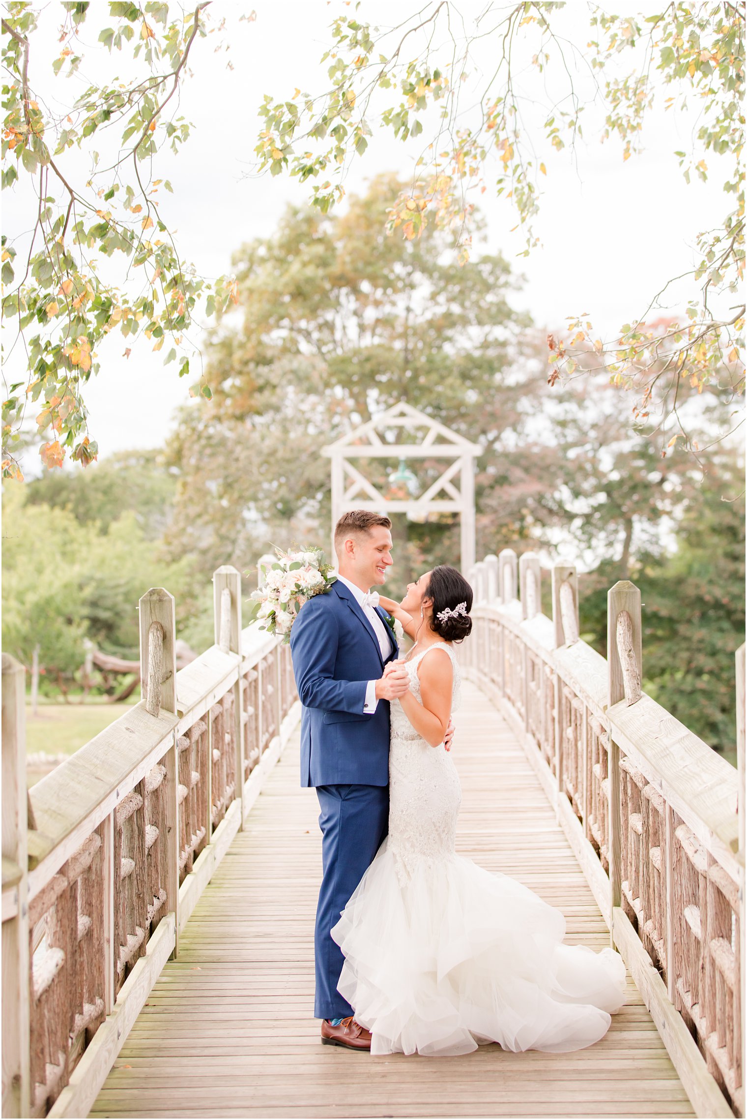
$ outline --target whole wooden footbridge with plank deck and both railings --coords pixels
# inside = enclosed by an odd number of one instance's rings
[[[3,657],[3,1116],[744,1116],[737,773],[641,691],[633,585],[609,592],[605,660],[578,637],[574,569],[554,569],[552,618],[531,553],[520,597],[518,576],[510,550],[471,575],[458,846],[562,909],[569,942],[612,936],[631,979],[606,1037],[441,1060],[319,1045],[289,651],[242,631],[223,568],[215,645],[177,673],[173,599],[149,591],[143,701],[28,803]],[[738,741],[744,783],[744,724]]]

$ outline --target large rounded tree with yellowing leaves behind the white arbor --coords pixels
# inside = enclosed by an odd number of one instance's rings
[[[310,526],[327,541],[321,447],[399,400],[480,439],[485,464],[503,432],[520,438],[529,401],[536,411],[545,373],[522,342],[526,317],[510,306],[518,281],[509,265],[500,255],[460,265],[438,230],[416,242],[388,237],[397,189],[381,176],[339,216],[291,207],[273,236],[234,259],[242,321],[231,315],[216,332],[212,400],[186,410],[171,445],[181,477],[170,536],[206,567],[216,557],[246,567],[247,554]],[[418,465],[423,485],[436,466]],[[385,488],[396,467],[379,460]],[[451,516],[417,524],[403,515],[396,528],[400,556],[405,529],[412,547],[403,579],[436,554],[458,559]]]

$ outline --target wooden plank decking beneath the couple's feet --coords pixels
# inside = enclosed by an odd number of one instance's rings
[[[607,928],[521,747],[464,687],[455,759],[460,850],[516,876],[568,922]],[[690,1117],[634,986],[602,1042],[576,1054],[370,1057],[319,1043],[313,915],[316,799],[291,740],[216,871],[102,1089],[96,1117]]]

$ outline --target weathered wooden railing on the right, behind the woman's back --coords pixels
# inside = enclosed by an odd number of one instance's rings
[[[745,647],[735,771],[642,691],[633,584],[608,592],[605,660],[579,638],[576,569],[552,569],[548,618],[539,559],[520,598],[517,567],[504,549],[472,569],[466,673],[519,735],[698,1114],[744,1116]]]

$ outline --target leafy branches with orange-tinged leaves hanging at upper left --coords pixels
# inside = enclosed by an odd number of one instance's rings
[[[20,477],[16,448],[27,402],[36,403],[39,433],[50,436],[40,451],[45,466],[60,466],[68,452],[84,466],[96,458],[84,391],[107,335],[144,334],[154,351],[169,338],[166,362],[182,353],[183,376],[198,301],[206,298],[210,315],[216,301],[235,298],[229,280],[207,282],[181,256],[161,217],[160,189],[171,184],[155,170],[159,151],[178,152],[190,133],[178,93],[196,40],[209,32],[208,7],[185,13],[162,0],[64,0],[53,110],[35,86],[39,11],[27,0],[3,4],[2,187],[35,198],[35,213],[30,232],[2,235],[4,333],[27,354],[2,405],[2,477]],[[78,32],[86,22],[96,22],[102,49],[129,58],[126,81],[91,85],[82,76]],[[74,148],[87,158],[72,158]]]

